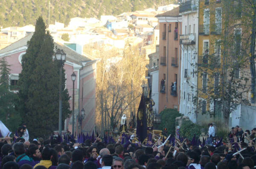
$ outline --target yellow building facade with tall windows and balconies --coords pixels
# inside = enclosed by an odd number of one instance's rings
[[[197,121],[222,119],[218,98],[223,34],[221,0],[200,0],[198,19],[198,115]],[[215,115],[215,116],[213,116]]]

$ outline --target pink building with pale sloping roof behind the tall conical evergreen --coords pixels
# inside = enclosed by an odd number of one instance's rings
[[[21,59],[26,54],[27,41],[32,34],[12,43],[0,50],[0,59],[5,57],[10,65],[10,85],[17,85],[19,73],[21,73]],[[75,80],[75,132],[92,133],[95,130],[95,110],[96,110],[96,59],[88,55],[78,54],[66,45],[54,42],[57,48],[62,49],[66,53],[66,61],[64,64],[66,74],[66,88],[68,89],[70,98],[70,110],[73,103],[73,81],[71,74],[76,74]],[[17,90],[13,90],[17,92]],[[85,113],[81,118],[81,110],[84,108]],[[80,118],[79,118],[80,117]],[[80,120],[81,119],[81,120]],[[58,120],[58,119],[56,119]],[[64,131],[72,132],[72,115],[65,120]]]

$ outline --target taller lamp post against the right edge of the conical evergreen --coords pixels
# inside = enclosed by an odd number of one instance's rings
[[[57,49],[55,52],[55,57],[57,60],[60,61],[60,84],[59,84],[59,134],[61,135],[62,131],[62,124],[61,124],[61,119],[62,119],[62,100],[61,100],[61,86],[62,86],[62,61],[65,62],[66,59],[66,54],[63,50]]]

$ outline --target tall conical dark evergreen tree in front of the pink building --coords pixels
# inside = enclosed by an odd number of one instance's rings
[[[42,17],[36,21],[35,33],[30,41],[26,54],[22,58],[20,73],[19,98],[22,122],[29,128],[32,137],[47,137],[58,129],[58,87],[59,61],[53,60],[54,43]],[[65,75],[62,76],[62,121],[70,113],[67,102],[69,96],[64,90]],[[62,123],[64,124],[64,123]]]

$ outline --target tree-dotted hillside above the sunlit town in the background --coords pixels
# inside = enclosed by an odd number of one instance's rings
[[[172,0],[171,0],[172,1]],[[55,20],[67,25],[73,17],[97,17],[118,15],[123,12],[154,8],[171,3],[170,0],[1,0],[0,26],[35,25],[42,16],[48,24]],[[49,8],[50,2],[50,8]],[[50,9],[50,10],[49,10]]]

